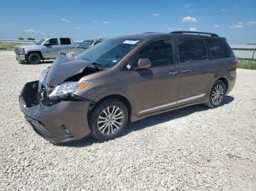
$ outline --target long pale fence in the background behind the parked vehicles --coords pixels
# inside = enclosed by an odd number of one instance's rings
[[[81,41],[74,41],[74,44],[80,44]],[[13,47],[21,44],[34,44],[32,40],[12,40],[0,39],[0,50],[13,50]],[[256,45],[251,44],[230,44],[236,57],[245,60],[256,60]]]

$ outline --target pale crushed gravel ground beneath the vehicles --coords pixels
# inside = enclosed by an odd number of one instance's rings
[[[54,146],[18,106],[23,85],[48,66],[0,52],[0,190],[256,190],[256,71],[238,69],[217,109],[190,106],[115,140]]]

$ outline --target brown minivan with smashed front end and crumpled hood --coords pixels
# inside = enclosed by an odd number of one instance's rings
[[[76,58],[59,55],[20,94],[26,120],[53,144],[113,139],[134,122],[184,106],[222,104],[236,60],[217,34],[176,31],[106,39]]]

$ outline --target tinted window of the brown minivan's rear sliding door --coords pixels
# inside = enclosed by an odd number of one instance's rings
[[[202,39],[176,39],[180,63],[208,59],[206,44]]]

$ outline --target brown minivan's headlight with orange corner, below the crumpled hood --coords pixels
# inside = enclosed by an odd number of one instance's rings
[[[89,85],[89,81],[83,82],[69,82],[62,85],[58,85],[50,93],[49,97],[53,98],[60,95],[67,95],[69,93],[74,93],[78,90],[86,88]]]

